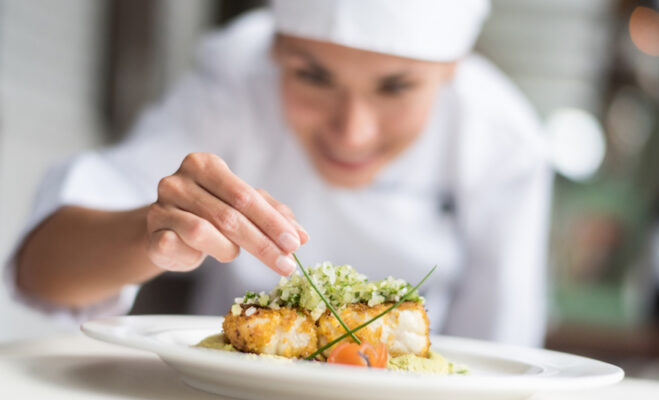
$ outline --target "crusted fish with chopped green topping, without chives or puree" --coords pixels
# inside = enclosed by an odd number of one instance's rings
[[[430,339],[424,300],[416,292],[408,293],[414,288],[407,282],[391,277],[368,281],[349,265],[331,263],[308,268],[308,274],[351,329],[408,296],[355,335],[372,344],[384,343],[393,357],[427,355]],[[237,298],[223,328],[226,339],[240,351],[297,358],[313,354],[345,333],[309,281],[299,274],[282,278],[269,294],[247,292]]]

